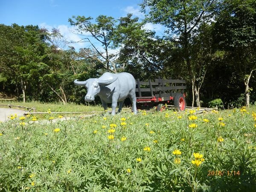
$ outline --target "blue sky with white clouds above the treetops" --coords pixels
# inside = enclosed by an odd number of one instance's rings
[[[96,18],[99,15],[119,18],[132,13],[143,18],[139,3],[143,0],[0,0],[0,24],[38,25],[51,29],[57,28],[67,41],[79,41],[74,34],[75,28],[68,19],[73,15]],[[146,24],[145,28],[161,31],[161,26]],[[71,45],[71,44],[70,44]],[[72,44],[79,49],[86,44]]]

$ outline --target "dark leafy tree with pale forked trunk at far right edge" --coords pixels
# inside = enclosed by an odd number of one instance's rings
[[[250,79],[256,70],[256,2],[226,0],[216,20],[215,41],[244,83],[246,106],[250,104]]]

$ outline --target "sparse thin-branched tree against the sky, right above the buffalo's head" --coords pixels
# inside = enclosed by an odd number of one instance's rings
[[[116,58],[118,52],[111,50],[116,20],[113,17],[107,17],[105,15],[99,15],[96,18],[96,23],[92,23],[92,20],[92,17],[84,16],[73,16],[69,18],[70,25],[77,26],[79,35],[84,36],[79,42],[88,42],[91,46],[90,49],[82,49],[79,52],[79,56],[98,60],[107,71],[116,72],[116,65],[113,60]],[[98,47],[97,44],[100,44],[101,47]]]

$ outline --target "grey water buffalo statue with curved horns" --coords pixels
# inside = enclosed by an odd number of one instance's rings
[[[74,81],[76,85],[86,87],[87,94],[84,100],[92,102],[95,96],[99,95],[104,110],[107,103],[112,103],[112,115],[116,113],[117,102],[119,102],[118,112],[122,110],[125,98],[129,97],[132,102],[132,111],[136,114],[136,81],[130,73],[104,73],[99,78],[87,79],[86,81]]]

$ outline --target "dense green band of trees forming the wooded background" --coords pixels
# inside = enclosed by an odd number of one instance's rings
[[[82,40],[90,48],[80,50],[61,49],[65,37],[58,29],[1,24],[1,91],[23,102],[84,103],[85,90],[74,79],[125,71],[141,80],[185,79],[189,105],[221,99],[233,108],[256,101],[254,0],[143,0],[140,7],[143,21],[131,14],[69,18],[79,34],[91,34]],[[145,29],[148,22],[166,30]]]

